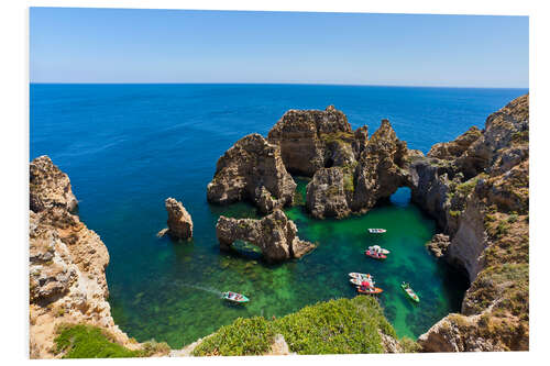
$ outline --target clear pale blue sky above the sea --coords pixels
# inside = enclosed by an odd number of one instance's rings
[[[31,8],[32,82],[528,87],[527,16]]]

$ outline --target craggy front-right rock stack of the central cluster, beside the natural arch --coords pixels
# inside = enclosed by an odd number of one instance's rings
[[[405,167],[409,152],[389,121],[382,121],[370,140],[367,127],[363,126],[353,137],[350,134],[340,138],[337,145],[338,148],[329,149],[330,167],[318,167],[307,186],[306,208],[315,218],[341,219],[351,212],[364,213],[408,185],[409,171]],[[297,157],[293,158],[293,164],[296,162]]]

